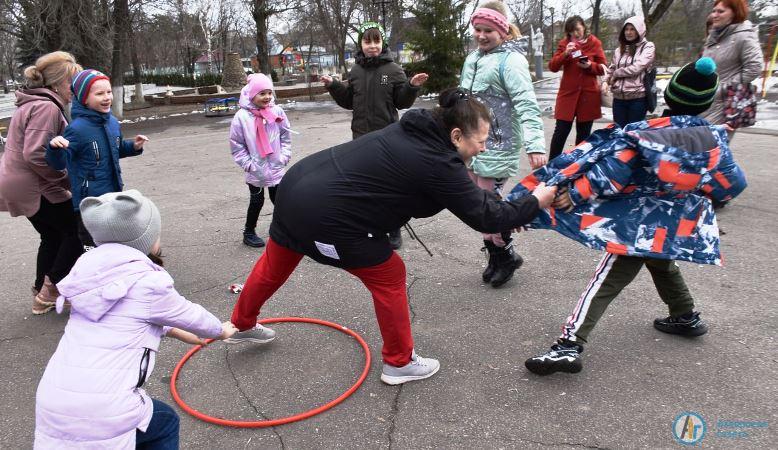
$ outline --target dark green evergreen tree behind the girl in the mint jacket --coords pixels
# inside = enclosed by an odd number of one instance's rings
[[[416,26],[409,33],[408,43],[424,59],[407,64],[406,69],[429,74],[425,92],[440,92],[457,85],[465,60],[466,6],[467,1],[463,0],[420,0],[410,9],[416,16]]]

